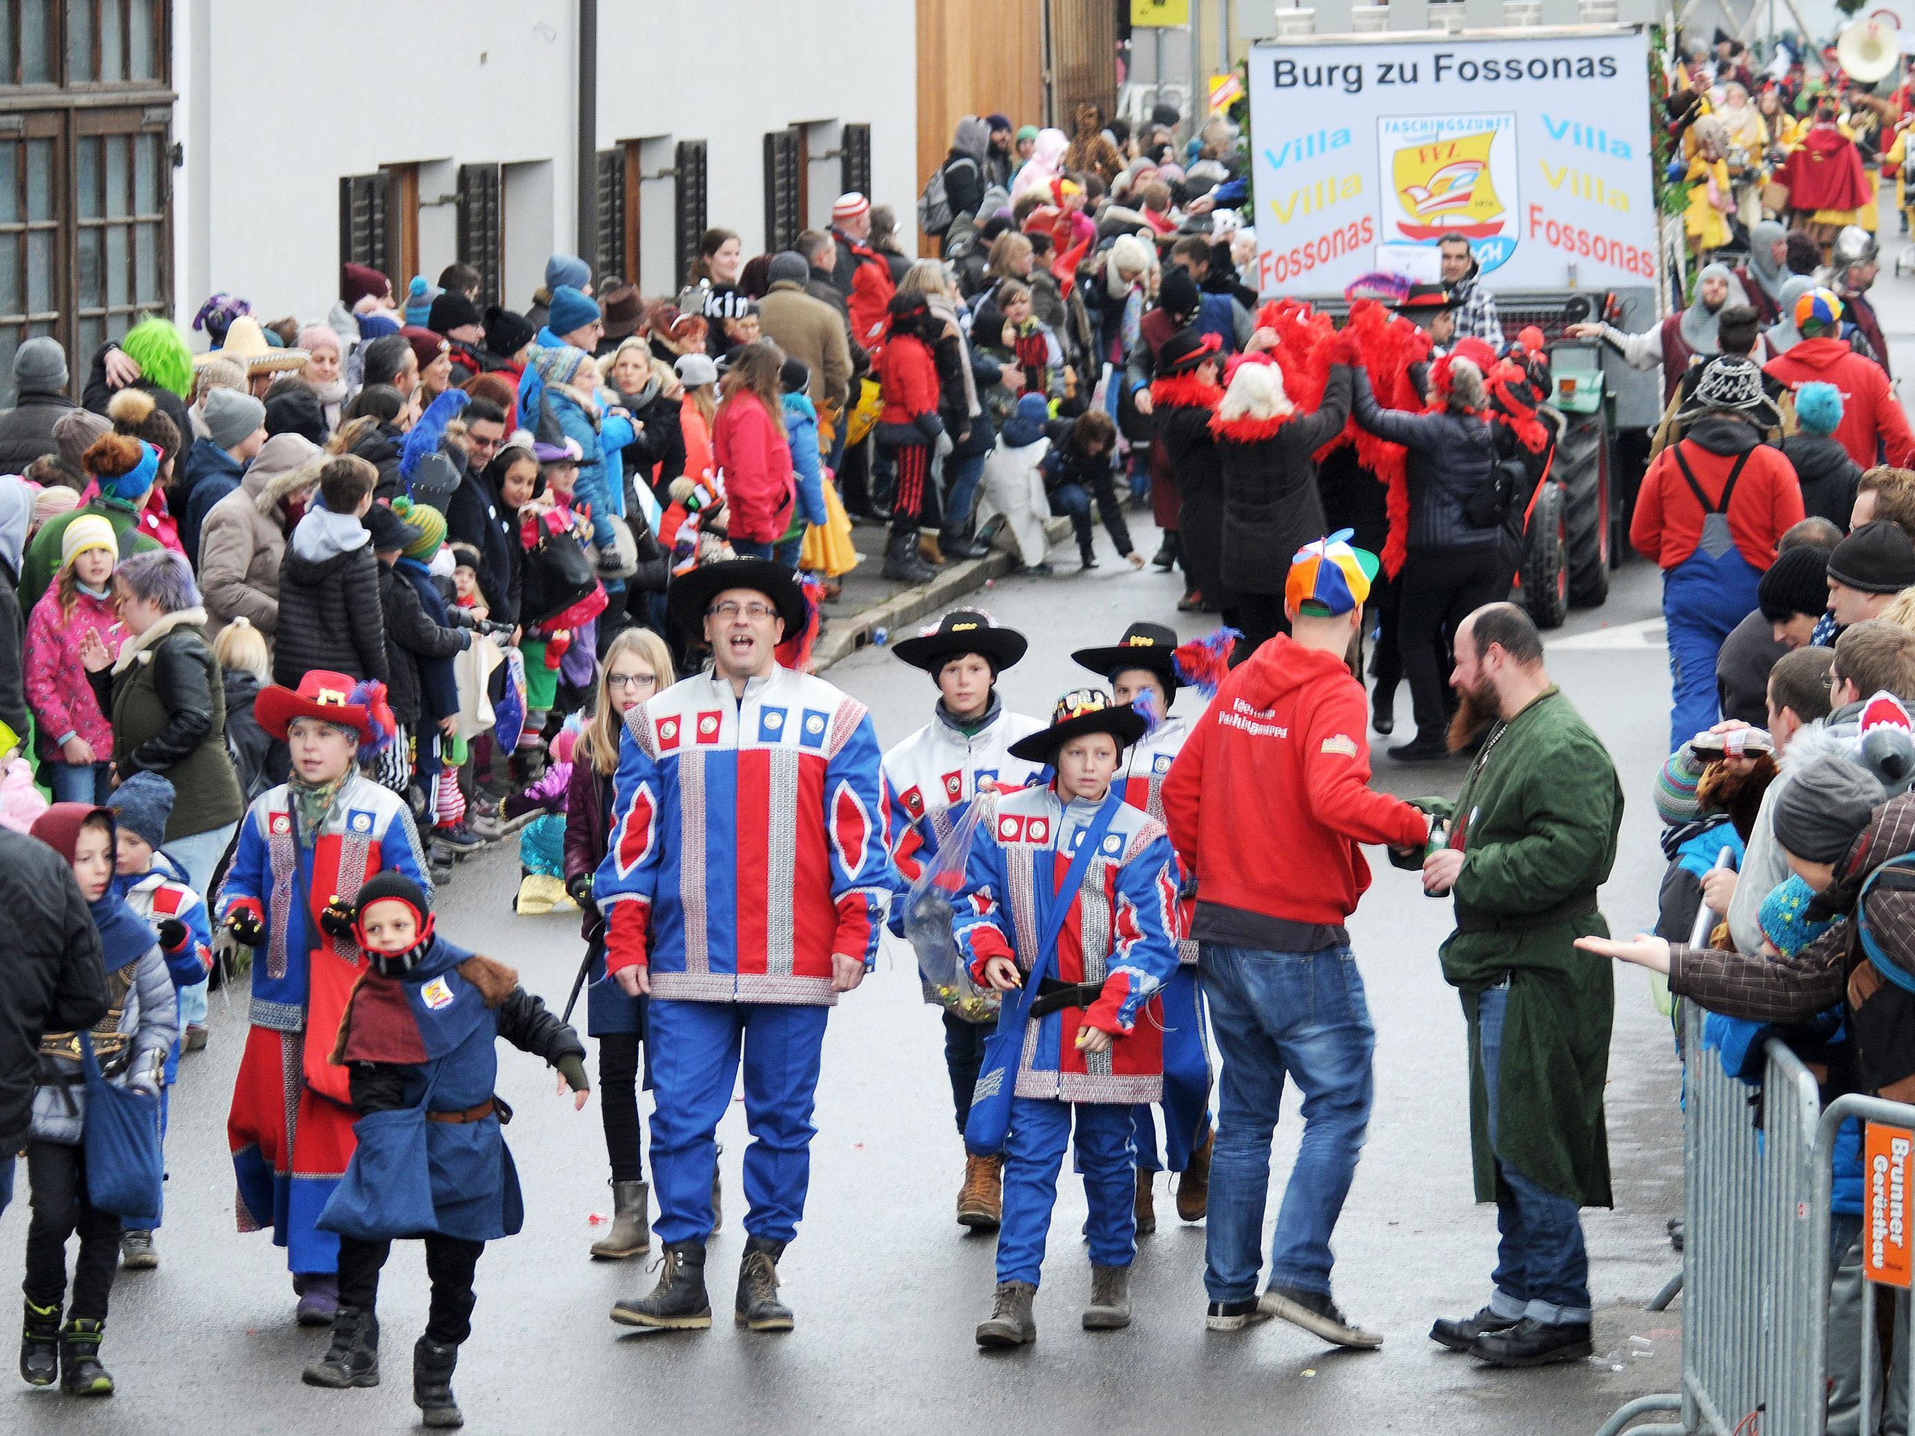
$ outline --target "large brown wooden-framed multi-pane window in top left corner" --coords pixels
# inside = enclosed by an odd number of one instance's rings
[[[165,0],[0,0],[0,396],[52,335],[94,350],[172,310]],[[4,398],[0,398],[4,402]]]

